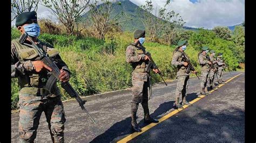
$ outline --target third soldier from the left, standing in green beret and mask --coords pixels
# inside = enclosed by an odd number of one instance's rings
[[[175,106],[179,109],[183,109],[183,106],[181,106],[179,102],[180,95],[182,95],[181,102],[184,100],[183,104],[192,105],[186,101],[186,90],[188,87],[188,79],[190,78],[190,74],[186,73],[188,63],[184,61],[185,56],[189,59],[188,55],[184,52],[186,49],[186,42],[186,40],[178,42],[172,57],[172,65],[178,68]],[[196,73],[196,71],[192,71],[192,73]]]

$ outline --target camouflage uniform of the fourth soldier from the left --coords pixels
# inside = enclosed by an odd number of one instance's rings
[[[200,83],[200,87],[203,90],[205,90],[205,92],[207,92],[207,88],[206,84],[207,84],[207,78],[210,72],[210,65],[208,65],[208,60],[206,58],[206,55],[202,53],[199,54],[198,56],[199,59],[199,63],[201,65],[201,83]]]

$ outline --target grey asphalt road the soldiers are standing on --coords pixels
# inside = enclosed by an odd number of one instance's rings
[[[224,80],[237,74],[239,72],[225,73]],[[177,81],[174,80],[167,87],[163,83],[153,86],[152,97],[149,101],[152,117],[161,118],[174,110],[173,103],[176,84]],[[187,91],[188,101],[197,98],[199,90],[200,81],[197,78],[191,78]],[[239,98],[239,100],[235,100],[235,98]],[[87,100],[86,109],[95,118],[97,125],[91,122],[86,113],[79,108],[76,101],[64,102],[66,113],[65,142],[116,142],[132,133],[130,128],[131,91],[129,89],[86,97],[85,99]],[[142,127],[146,126],[142,121],[144,115],[141,105],[139,105],[137,116],[139,125]],[[165,120],[163,125],[160,123],[156,127],[151,128],[149,131],[131,140],[131,142],[158,142],[159,138],[161,139],[159,142],[194,142],[196,140],[206,141],[207,139],[214,142],[243,141],[244,74],[228,82],[218,91],[214,91],[213,95],[207,96],[195,103],[194,106],[181,111],[176,116],[171,117],[170,120]],[[17,142],[18,112],[12,113],[11,117],[11,140]],[[181,124],[181,122],[186,124]],[[194,124],[194,126],[188,126],[191,124]],[[159,134],[164,134],[164,136],[159,137]],[[187,138],[188,135],[193,136]],[[150,139],[147,139],[149,137]],[[44,114],[42,114],[40,120],[36,141],[51,142]]]

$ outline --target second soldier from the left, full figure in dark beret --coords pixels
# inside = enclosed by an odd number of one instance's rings
[[[139,41],[140,44],[144,44],[145,31],[136,30],[134,31],[134,42],[126,48],[126,62],[131,63],[132,72],[132,101],[131,101],[131,125],[134,131],[141,132],[141,128],[138,126],[136,121],[136,113],[138,110],[139,103],[142,104],[144,110],[144,122],[145,123],[158,123],[150,117],[149,106],[148,106],[148,91],[151,90],[150,73],[147,73],[145,69],[148,66],[149,57],[143,54],[142,50],[139,50],[135,44]],[[158,69],[153,69],[154,73],[159,73]],[[151,93],[151,92],[150,92]]]

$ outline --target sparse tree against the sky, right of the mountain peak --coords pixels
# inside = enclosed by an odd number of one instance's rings
[[[179,16],[179,13],[175,13],[173,10],[171,11],[166,8],[170,5],[170,0],[159,10],[153,8],[151,1],[146,0],[145,2],[145,5],[140,5],[138,15],[147,33],[149,33],[150,41],[152,42],[159,33],[170,33],[167,40],[170,40],[171,43],[172,35],[176,33],[174,27],[175,25],[183,25],[183,19]],[[154,15],[152,13],[154,13]]]

